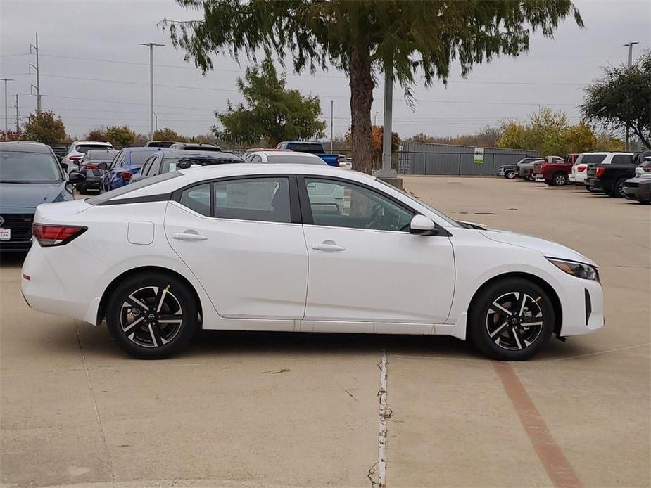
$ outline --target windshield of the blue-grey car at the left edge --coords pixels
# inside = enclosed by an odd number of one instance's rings
[[[51,154],[0,151],[1,183],[51,183],[63,181],[58,162]]]

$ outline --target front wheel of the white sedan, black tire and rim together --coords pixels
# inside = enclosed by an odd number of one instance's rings
[[[521,297],[524,305],[519,302]],[[516,313],[512,314],[510,309]],[[524,278],[505,279],[488,285],[473,300],[468,334],[486,356],[500,361],[522,361],[547,344],[554,320],[552,301],[540,286]]]

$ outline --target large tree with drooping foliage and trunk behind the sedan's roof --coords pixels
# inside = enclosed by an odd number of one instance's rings
[[[172,44],[203,72],[212,53],[291,53],[294,70],[334,67],[350,77],[356,169],[372,164],[371,106],[377,72],[389,72],[408,97],[416,79],[446,82],[453,60],[467,75],[475,63],[529,49],[531,31],[551,37],[558,23],[581,15],[570,0],[177,0],[203,19],[163,20]],[[410,98],[411,99],[411,98]]]

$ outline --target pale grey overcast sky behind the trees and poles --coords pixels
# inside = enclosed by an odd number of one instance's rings
[[[417,85],[414,110],[396,87],[393,130],[403,138],[418,132],[469,134],[486,124],[524,119],[539,105],[564,110],[570,122],[578,122],[582,87],[599,77],[602,67],[627,62],[628,50],[622,44],[640,42],[634,58],[649,48],[651,2],[576,0],[575,4],[585,28],[567,19],[555,39],[534,34],[529,53],[478,65],[467,79],[460,78],[456,66],[447,88],[441,83],[430,89]],[[184,62],[182,51],[172,47],[168,32],[157,27],[163,18],[200,17],[174,0],[0,0],[0,76],[15,79],[8,84],[10,129],[15,128],[15,94],[22,115],[36,107],[36,97],[30,95],[36,78],[28,74],[28,66],[36,62],[29,52],[38,32],[43,108],[61,115],[72,136],[113,124],[148,133],[148,48],[137,43],[149,41],[165,44],[154,53],[158,128],[171,127],[186,135],[208,133],[215,123],[213,111],[223,110],[228,99],[240,100],[235,82],[245,65],[214,58],[215,71],[203,77]],[[329,100],[334,100],[334,134],[348,131],[350,89],[342,72],[287,74],[289,86],[320,96],[328,124]],[[378,124],[383,90],[380,83],[374,92],[372,121],[377,117]],[[0,100],[4,102],[4,96]],[[4,107],[0,110],[4,116]],[[0,120],[4,129],[4,119]]]

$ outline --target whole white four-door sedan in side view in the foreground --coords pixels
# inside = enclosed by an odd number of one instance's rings
[[[453,335],[517,360],[604,321],[579,252],[322,165],[184,169],[39,205],[22,285],[34,309],[106,320],[138,358],[204,328]]]

